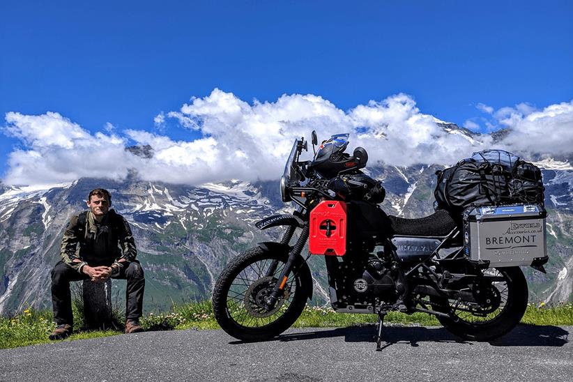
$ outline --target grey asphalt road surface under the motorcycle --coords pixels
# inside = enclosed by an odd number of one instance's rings
[[[0,350],[0,381],[573,381],[573,327],[518,326],[496,342],[438,327],[291,329],[243,343],[176,330]]]

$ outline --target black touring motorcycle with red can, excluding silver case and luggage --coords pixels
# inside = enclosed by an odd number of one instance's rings
[[[315,154],[307,161],[299,161],[307,141],[295,140],[280,191],[296,208],[257,222],[259,229],[284,227],[280,242],[243,252],[218,277],[213,310],[221,328],[247,342],[284,332],[312,299],[307,259],[321,254],[333,310],[378,315],[377,350],[390,311],[433,314],[463,339],[491,341],[512,330],[528,303],[519,266],[544,272],[547,255],[505,263],[475,259],[468,254],[468,223],[460,216],[442,209],[420,219],[386,215],[379,206],[383,185],[361,171],[367,151],[346,153],[348,138],[333,135],[316,151],[313,131]]]

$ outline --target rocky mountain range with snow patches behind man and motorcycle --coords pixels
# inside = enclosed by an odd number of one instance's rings
[[[439,123],[468,139],[475,134],[452,123]],[[498,135],[503,136],[503,132]],[[133,155],[153,155],[151,146],[129,150]],[[570,158],[533,158],[542,168],[546,187],[549,263],[547,274],[523,268],[530,302],[573,300]],[[374,163],[366,171],[383,181],[387,196],[381,206],[389,215],[422,217],[433,212],[438,169],[443,166]],[[254,223],[292,209],[280,199],[278,180],[190,186],[144,182],[137,174],[130,174],[121,181],[82,178],[59,185],[0,184],[0,314],[13,314],[26,307],[51,307],[50,271],[59,260],[63,229],[72,214],[86,209],[86,197],[94,188],[109,190],[112,208],[130,222],[146,272],[146,312],[210,298],[217,275],[229,259],[258,242],[277,240],[281,234],[280,229],[259,231]],[[328,299],[326,269],[320,256],[309,261],[314,278],[313,303],[323,305]],[[77,290],[75,286],[75,293]],[[125,282],[113,282],[113,296],[120,306],[124,291]]]

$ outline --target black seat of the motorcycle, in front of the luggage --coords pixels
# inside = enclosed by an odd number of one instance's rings
[[[420,217],[419,219],[404,219],[404,217],[388,216],[394,235],[396,236],[431,236],[445,237],[457,227],[455,220],[445,210]]]

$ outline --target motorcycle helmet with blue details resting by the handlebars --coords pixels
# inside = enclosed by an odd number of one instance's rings
[[[337,176],[341,171],[365,167],[368,155],[364,148],[356,148],[354,156],[344,153],[349,144],[348,138],[349,134],[337,134],[323,142],[310,167],[327,179]]]

